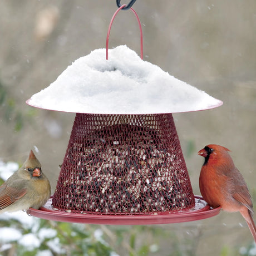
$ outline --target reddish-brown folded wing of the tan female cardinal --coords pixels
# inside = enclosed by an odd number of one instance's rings
[[[0,210],[13,204],[18,199],[22,198],[27,193],[27,189],[11,188],[10,186],[3,184],[0,186]]]

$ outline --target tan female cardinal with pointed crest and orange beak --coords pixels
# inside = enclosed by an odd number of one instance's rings
[[[39,209],[51,195],[51,185],[33,151],[5,183],[0,186],[0,213]]]

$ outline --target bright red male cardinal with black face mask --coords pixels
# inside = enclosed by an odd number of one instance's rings
[[[205,158],[199,178],[201,195],[213,208],[221,206],[225,211],[240,211],[256,242],[252,197],[228,151],[211,144],[198,152]]]

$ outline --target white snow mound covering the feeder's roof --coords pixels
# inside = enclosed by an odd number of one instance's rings
[[[164,114],[211,109],[222,102],[141,60],[127,46],[78,58],[27,104],[90,114]]]

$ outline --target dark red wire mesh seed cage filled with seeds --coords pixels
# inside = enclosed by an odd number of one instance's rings
[[[76,114],[54,209],[159,214],[194,204],[171,114]]]

